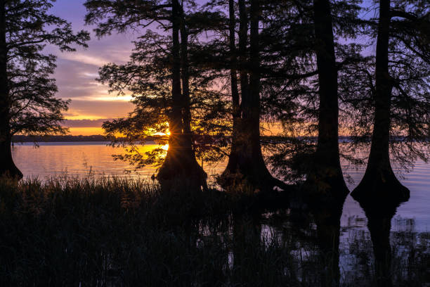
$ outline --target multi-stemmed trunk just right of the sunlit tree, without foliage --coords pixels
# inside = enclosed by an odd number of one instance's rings
[[[235,154],[230,158],[221,177],[226,189],[244,187],[254,190],[271,190],[274,186],[285,188],[285,184],[274,179],[263,160],[260,145],[260,75],[259,75],[259,17],[258,0],[251,1],[250,50],[247,60],[248,20],[245,0],[239,0],[239,54],[241,117],[237,118]],[[231,16],[231,15],[230,15]],[[231,39],[230,39],[231,41]],[[249,72],[249,79],[248,79]],[[236,186],[239,185],[239,186]]]

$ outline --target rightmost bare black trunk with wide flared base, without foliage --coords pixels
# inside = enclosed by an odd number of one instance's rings
[[[391,126],[391,91],[389,75],[390,0],[379,1],[379,23],[376,51],[375,110],[369,161],[365,175],[351,195],[354,198],[386,193],[387,196],[409,198],[409,190],[400,184],[391,168],[389,141]]]

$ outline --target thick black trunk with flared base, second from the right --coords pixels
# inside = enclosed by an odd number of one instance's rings
[[[315,164],[305,186],[309,192],[343,194],[348,189],[339,159],[337,68],[330,1],[314,0],[313,10],[320,107]]]

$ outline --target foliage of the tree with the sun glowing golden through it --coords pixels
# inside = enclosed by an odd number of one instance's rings
[[[100,37],[112,31],[134,30],[141,34],[128,63],[110,63],[100,69],[100,81],[107,83],[111,92],[130,93],[136,105],[129,117],[103,125],[108,135],[124,136],[112,141],[112,145],[129,146],[128,153],[116,157],[136,167],[165,166],[162,155],[169,154],[176,145],[182,150],[178,153],[191,148],[191,157],[197,156],[202,162],[224,156],[226,124],[222,119],[226,103],[223,93],[212,85],[214,75],[199,65],[199,35],[218,23],[219,15],[193,11],[193,1],[181,2],[178,15],[174,14],[176,1],[138,1],[134,5],[87,1],[86,7],[86,21],[98,25]],[[179,34],[180,41],[176,38]],[[159,147],[140,153],[138,146],[148,137],[153,139],[154,134],[169,134],[157,139],[160,146],[169,143],[169,151]]]

